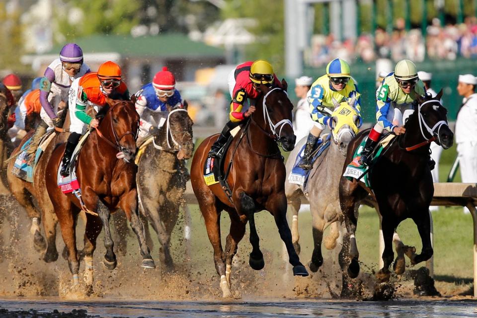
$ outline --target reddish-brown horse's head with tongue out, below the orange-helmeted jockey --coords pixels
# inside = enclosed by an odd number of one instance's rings
[[[112,140],[108,138],[109,142],[112,142],[112,146],[122,152],[124,157],[121,156],[120,158],[130,162],[134,160],[136,154],[136,139],[139,132],[139,114],[134,107],[135,100],[107,99],[107,103],[109,104],[109,116],[106,116],[106,118],[110,117],[110,120],[103,120],[101,126],[109,124],[108,129],[110,130],[110,137],[112,137]],[[105,132],[106,130],[102,131]]]

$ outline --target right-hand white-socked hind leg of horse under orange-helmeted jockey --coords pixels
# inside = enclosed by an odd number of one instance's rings
[[[97,217],[86,214],[84,248],[80,254],[84,257],[84,283],[88,294],[93,289],[93,252],[96,249],[96,239],[101,232],[101,227],[101,221]]]

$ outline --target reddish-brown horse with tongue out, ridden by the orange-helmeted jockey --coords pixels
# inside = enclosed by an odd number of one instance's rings
[[[105,116],[98,129],[93,131],[84,143],[76,165],[76,175],[81,185],[85,209],[98,215],[86,213],[84,248],[80,252],[86,264],[85,282],[88,289],[92,288],[92,255],[101,228],[105,231],[104,264],[110,270],[117,265],[109,219],[111,212],[118,208],[126,213],[138,237],[143,256],[142,266],[155,267],[138,214],[137,167],[133,159],[136,153],[139,115],[135,110],[134,101],[108,100],[108,104],[109,107],[105,106],[102,109]],[[74,194],[63,194],[57,185],[57,173],[64,150],[65,145],[62,144],[53,151],[46,168],[46,186],[60,222],[63,240],[68,248],[68,263],[73,274],[73,284],[78,285],[76,220],[81,208]],[[117,155],[124,156],[124,159],[118,159]]]

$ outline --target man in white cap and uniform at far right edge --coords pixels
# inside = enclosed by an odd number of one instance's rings
[[[472,74],[459,75],[457,92],[463,96],[456,120],[457,158],[462,182],[477,182],[477,79]]]

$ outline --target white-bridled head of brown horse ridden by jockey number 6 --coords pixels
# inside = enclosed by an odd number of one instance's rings
[[[282,145],[284,151],[292,151],[295,148],[297,137],[293,133],[292,109],[293,104],[288,98],[288,84],[282,79],[282,87],[268,87],[260,84],[263,93],[261,105],[257,105],[254,119],[263,117],[265,129],[269,129],[275,136],[275,140]],[[260,119],[261,120],[261,119]]]

